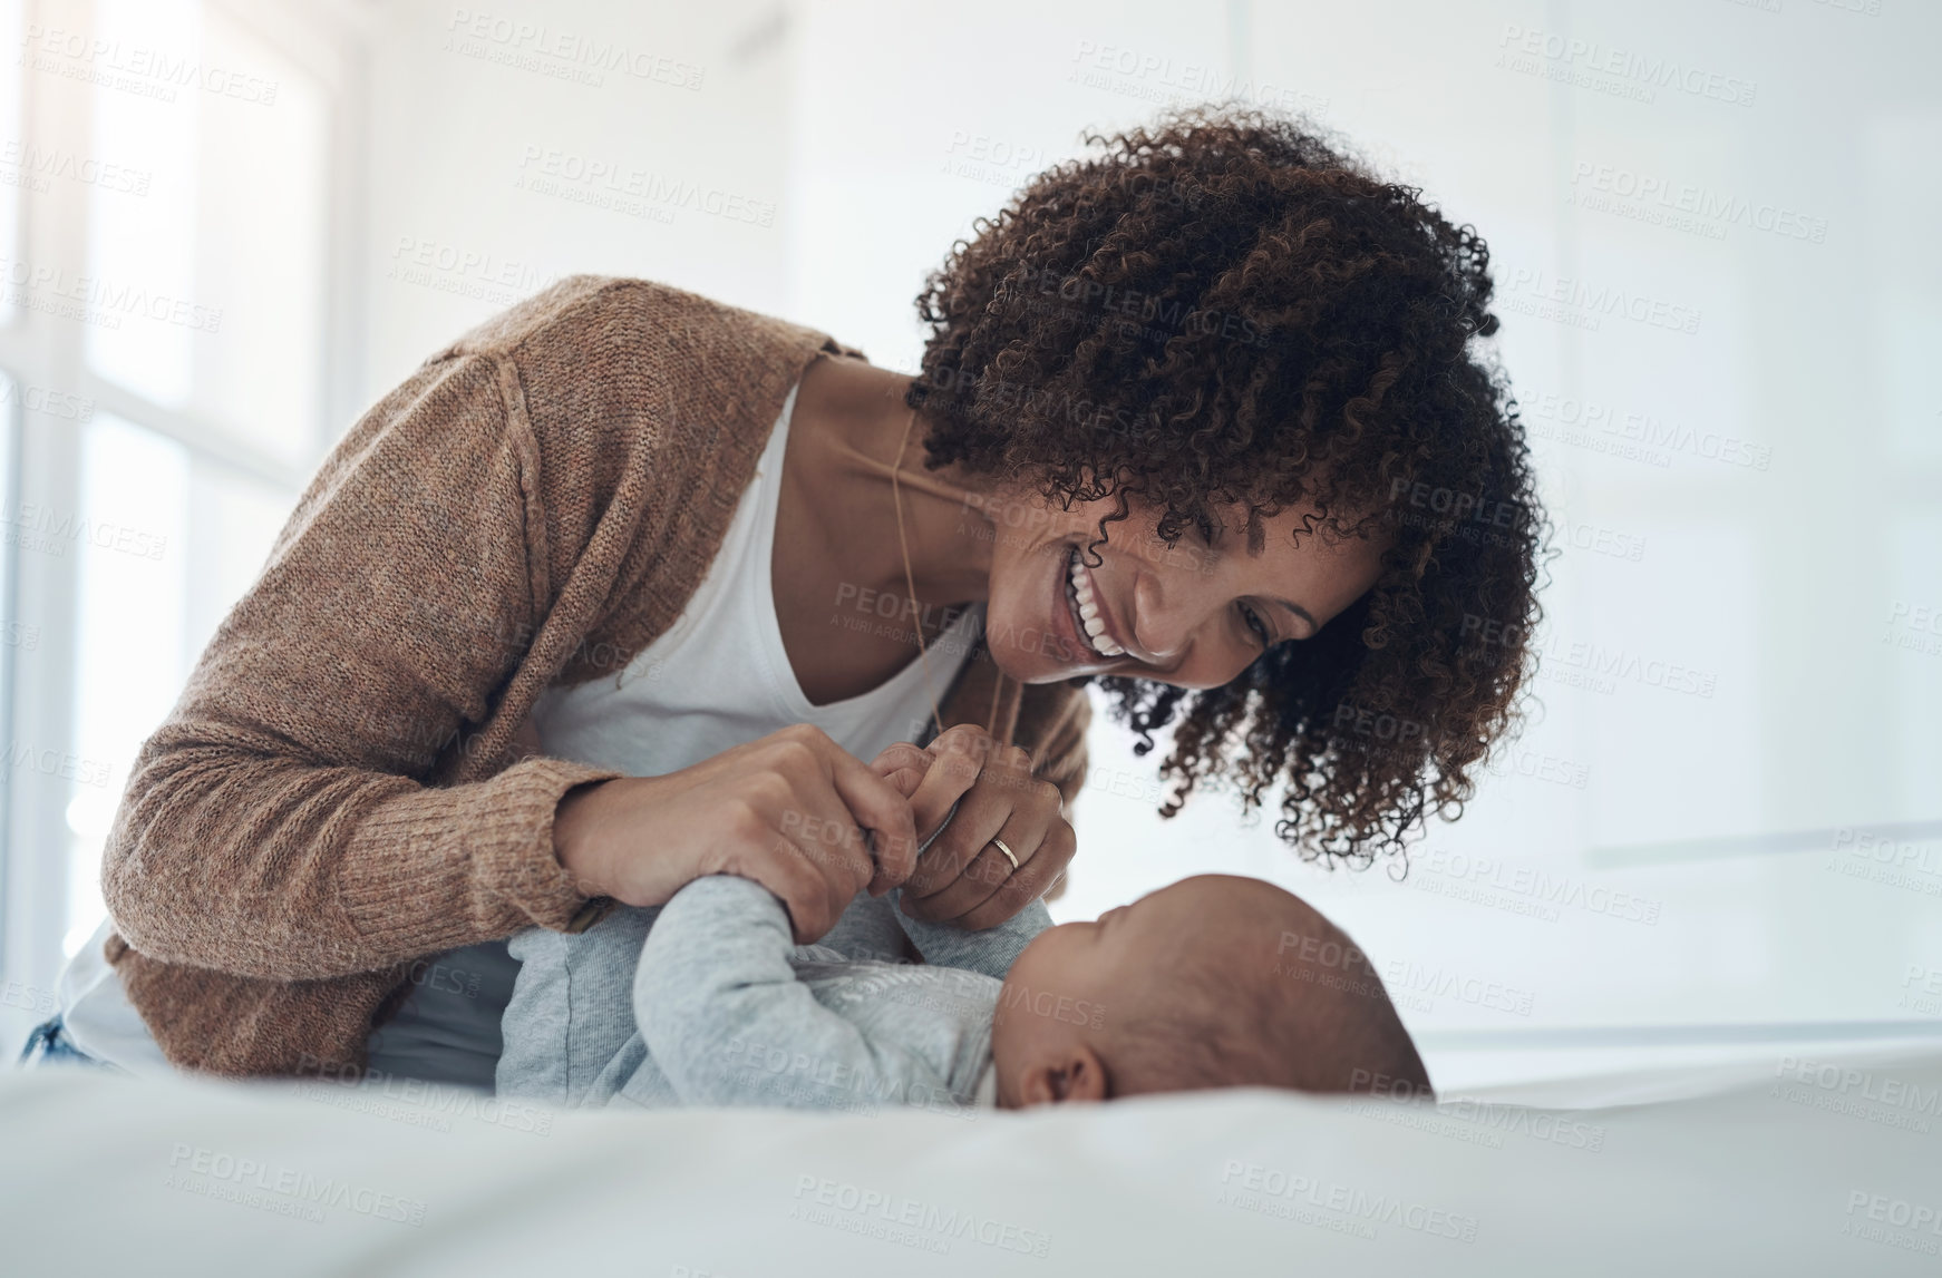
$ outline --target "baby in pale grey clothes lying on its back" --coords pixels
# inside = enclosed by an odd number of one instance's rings
[[[899,895],[858,895],[814,946],[792,942],[765,888],[728,876],[579,936],[522,932],[497,1090],[555,1105],[967,1113],[1225,1086],[1350,1092],[1379,1076],[1429,1086],[1361,950],[1272,884],[1202,874],[1060,926],[1033,901],[983,932],[911,919]],[[922,963],[899,961],[905,936]]]

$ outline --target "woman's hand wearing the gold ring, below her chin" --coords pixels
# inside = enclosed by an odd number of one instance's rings
[[[1078,847],[1058,787],[1031,775],[1031,756],[1021,748],[998,746],[975,724],[948,728],[928,750],[891,746],[872,769],[911,794],[919,841],[957,804],[903,886],[903,909],[917,919],[996,926],[1045,895]],[[907,789],[911,777],[921,777],[915,792]],[[992,837],[1018,857],[1016,870]]]

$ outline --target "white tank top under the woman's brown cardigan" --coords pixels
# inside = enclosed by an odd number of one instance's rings
[[[769,585],[783,449],[794,406],[796,392],[790,390],[720,552],[682,618],[619,674],[540,693],[532,721],[544,754],[633,777],[658,777],[796,723],[820,726],[864,761],[893,742],[922,740],[930,726],[930,701],[944,701],[979,639],[985,606],[967,608],[934,643],[926,643],[928,691],[926,662],[913,655],[887,682],[858,697],[810,705],[783,649]],[[858,606],[866,602],[858,596],[837,600],[831,606],[833,625],[909,631],[911,620],[895,616],[899,600],[868,600],[868,606]],[[70,963],[70,969],[85,971],[76,971],[80,979],[62,985],[85,991],[85,996],[64,1006],[62,1018],[87,1055],[148,1072],[161,1064],[161,1053],[128,1006],[115,969],[101,959],[107,932],[109,925],[103,925],[101,934]],[[499,1016],[513,994],[519,963],[505,942],[487,942],[452,950],[419,967],[423,979],[369,1039],[371,1068],[489,1092],[499,1060]]]

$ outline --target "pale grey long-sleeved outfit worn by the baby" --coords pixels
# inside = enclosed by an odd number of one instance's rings
[[[579,936],[530,928],[497,1092],[553,1105],[963,1111],[990,1064],[1002,977],[1051,926],[1043,901],[983,932],[922,923],[901,891],[858,893],[796,946],[744,878],[699,878]],[[922,963],[895,961],[909,936]]]

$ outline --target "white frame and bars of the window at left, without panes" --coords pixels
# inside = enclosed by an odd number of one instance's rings
[[[0,375],[16,387],[52,387],[91,404],[89,416],[113,414],[184,447],[192,466],[212,466],[264,484],[291,501],[357,410],[361,396],[363,208],[367,185],[365,85],[371,39],[379,21],[367,0],[202,0],[221,17],[264,43],[309,78],[324,99],[324,284],[318,359],[322,385],[318,437],[297,460],[190,410],[153,402],[87,367],[85,324],[31,307],[16,307],[0,322]],[[35,25],[87,31],[93,0],[23,0],[16,47]],[[19,72],[21,142],[49,151],[91,151],[93,87],[66,78]],[[54,181],[47,190],[12,190],[17,200],[17,241],[0,245],[14,260],[70,262],[84,270],[91,190]],[[58,511],[82,509],[82,429],[76,421],[27,414],[21,394],[4,406],[8,449],[0,501],[17,517],[23,499]],[[186,552],[184,552],[186,554]],[[0,717],[10,756],[16,744],[72,754],[76,742],[78,575],[80,555],[21,555],[17,538],[0,544],[0,631],[37,625],[31,651],[0,649]],[[21,1008],[45,1016],[68,956],[66,787],[50,777],[21,783],[12,765],[0,767],[0,989],[10,991],[0,1014]],[[12,1035],[10,1035],[12,1037]]]

